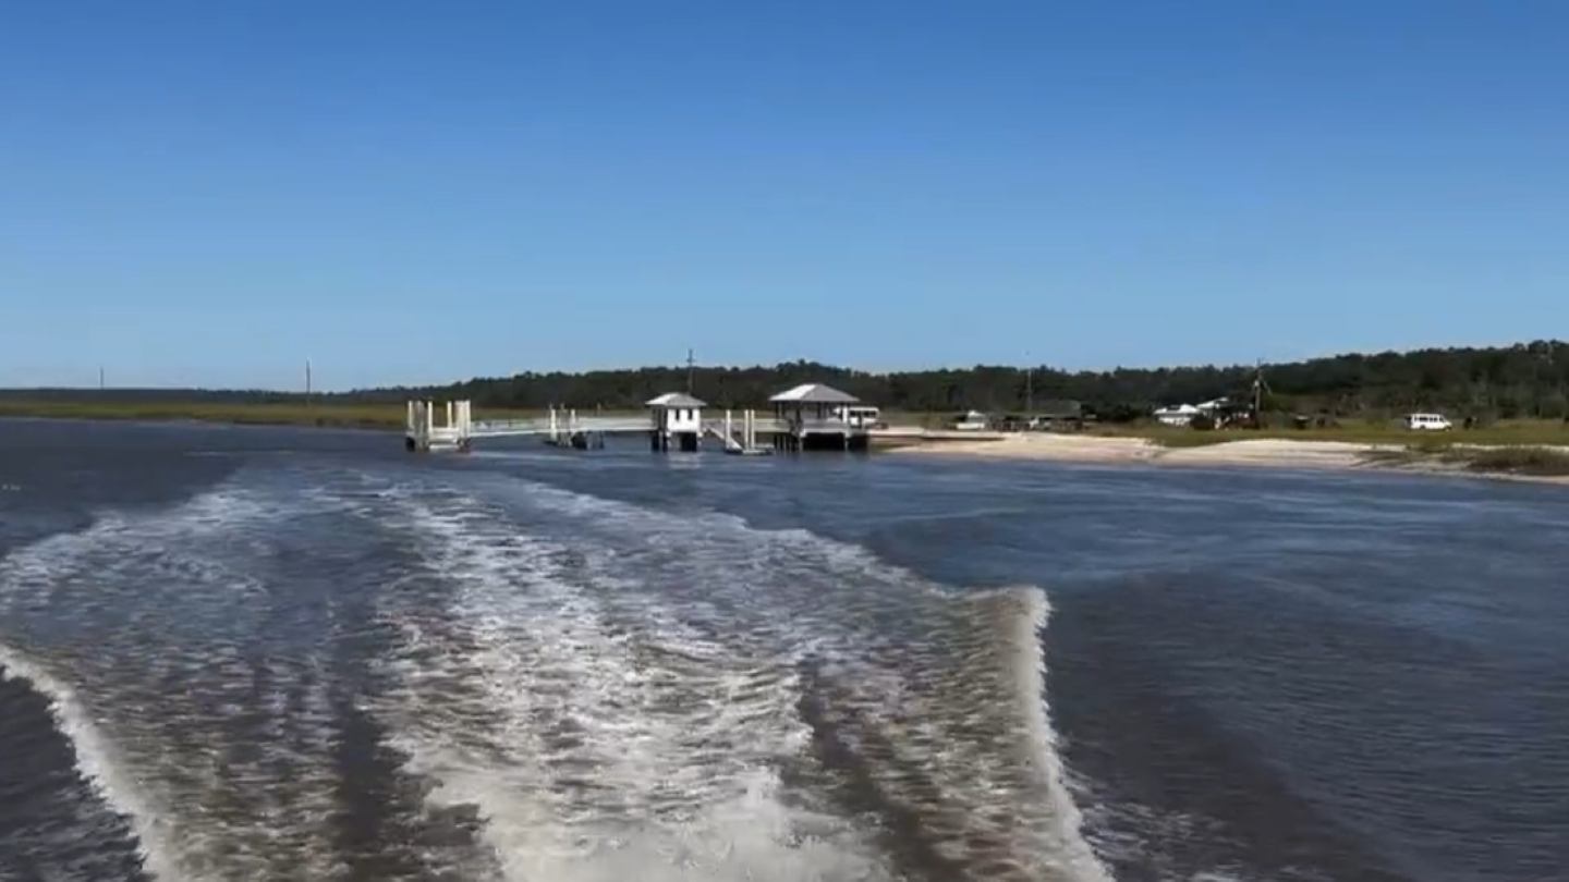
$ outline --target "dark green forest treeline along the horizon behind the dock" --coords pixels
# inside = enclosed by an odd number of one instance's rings
[[[1023,411],[1083,403],[1103,419],[1127,419],[1152,406],[1246,397],[1261,375],[1265,408],[1337,416],[1443,410],[1451,416],[1569,416],[1569,344],[1539,341],[1505,348],[1428,348],[1407,353],[1337,355],[1291,364],[1232,367],[1116,369],[1068,372],[1017,366],[868,374],[805,361],[772,367],[695,367],[692,391],[720,406],[758,405],[797,383],[821,381],[868,403],[902,411]],[[686,389],[684,366],[587,374],[518,374],[441,388],[361,389],[319,400],[402,402],[406,397],[471,399],[477,408],[635,408],[661,392]],[[188,389],[31,389],[9,399],[162,399],[207,402],[287,402],[289,392]]]

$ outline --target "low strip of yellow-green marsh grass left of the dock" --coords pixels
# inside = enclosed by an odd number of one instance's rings
[[[337,428],[403,428],[403,405],[303,402],[209,403],[209,402],[35,402],[0,399],[0,417],[122,419],[226,422],[235,425],[320,425]],[[475,411],[475,419],[518,419],[532,411]]]

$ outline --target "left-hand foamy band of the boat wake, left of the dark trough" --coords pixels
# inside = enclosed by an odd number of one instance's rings
[[[104,512],[0,560],[6,625],[47,632],[78,618],[77,639],[94,640],[49,691],[69,697],[61,719],[72,725],[86,719],[71,716],[77,694],[91,698],[97,722],[63,731],[111,791],[135,782],[119,799],[160,876],[342,873],[325,678],[311,658],[249,647],[270,603],[248,573],[251,556],[268,552],[257,537],[298,510],[224,485],[166,508]],[[260,683],[271,692],[253,706]]]

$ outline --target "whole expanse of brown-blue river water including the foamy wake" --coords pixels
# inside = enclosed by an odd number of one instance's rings
[[[0,880],[1569,879],[1569,493],[0,422]]]

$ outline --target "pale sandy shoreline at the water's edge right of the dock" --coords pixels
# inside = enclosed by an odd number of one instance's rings
[[[1497,446],[1470,446],[1500,450]],[[1560,447],[1569,458],[1569,447]],[[1219,466],[1327,471],[1379,471],[1425,476],[1483,477],[1569,487],[1569,474],[1525,474],[1508,469],[1465,468],[1440,454],[1403,444],[1240,438],[1197,447],[1166,447],[1147,438],[1097,435],[1009,435],[985,441],[930,441],[890,447],[886,454],[960,457],[974,460],[1051,461],[1078,465]]]

